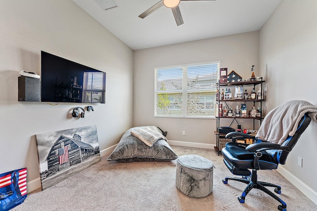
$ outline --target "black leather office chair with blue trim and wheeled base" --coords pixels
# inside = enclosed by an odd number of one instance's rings
[[[258,181],[257,171],[260,169],[277,169],[279,164],[284,165],[289,152],[310,122],[311,117],[306,113],[301,118],[295,134],[293,136],[288,136],[281,145],[264,142],[258,138],[255,139],[255,144],[242,144],[235,142],[235,140],[252,137],[249,134],[241,132],[230,132],[226,135],[226,138],[232,139],[232,142],[228,142],[221,151],[223,161],[231,173],[240,175],[242,178],[226,177],[222,181],[224,184],[227,184],[228,180],[235,180],[248,184],[242,195],[238,197],[240,203],[244,203],[247,194],[253,188],[257,188],[281,203],[281,205],[278,206],[278,210],[286,211],[286,203],[265,188],[265,186],[274,187],[274,192],[280,194],[281,187],[275,184]],[[252,169],[252,173],[249,169]]]

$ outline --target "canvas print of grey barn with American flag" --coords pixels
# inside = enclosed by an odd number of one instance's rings
[[[101,161],[96,126],[36,135],[42,190]]]

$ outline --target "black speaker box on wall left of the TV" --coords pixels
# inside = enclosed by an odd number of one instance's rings
[[[18,101],[41,102],[40,79],[18,77]]]

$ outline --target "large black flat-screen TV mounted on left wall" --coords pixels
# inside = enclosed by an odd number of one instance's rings
[[[106,103],[106,73],[41,51],[41,101]]]

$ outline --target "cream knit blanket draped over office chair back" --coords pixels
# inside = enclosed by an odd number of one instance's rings
[[[317,107],[304,100],[291,100],[273,110],[264,118],[256,137],[263,141],[282,144],[287,136],[293,136],[301,118],[309,116],[317,122]]]

